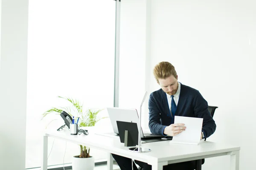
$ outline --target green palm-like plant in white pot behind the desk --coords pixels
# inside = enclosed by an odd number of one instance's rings
[[[79,127],[87,127],[87,126],[94,126],[96,122],[98,122],[100,119],[104,119],[106,117],[98,118],[98,113],[102,111],[102,109],[88,109],[87,111],[83,111],[83,105],[81,105],[81,102],[77,99],[71,99],[67,97],[61,97],[58,96],[58,98],[65,99],[68,102],[70,102],[70,107],[57,107],[57,108],[51,108],[48,111],[43,113],[43,118],[47,116],[48,114],[61,114],[62,111],[66,111],[70,114],[70,116],[75,116],[77,121],[77,118],[79,117]],[[42,119],[43,119],[42,118]],[[73,170],[93,170],[94,168],[94,159],[92,156],[90,156],[90,148],[87,146],[80,145],[80,155],[73,156],[73,162],[72,162],[72,169]]]

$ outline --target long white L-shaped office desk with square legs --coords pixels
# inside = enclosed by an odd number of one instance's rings
[[[142,147],[151,149],[148,153],[134,153],[124,147],[119,139],[107,136],[89,135],[70,135],[69,130],[62,131],[48,130],[44,134],[43,159],[41,170],[47,170],[47,147],[48,137],[62,139],[67,142],[85,145],[108,152],[108,170],[113,169],[113,157],[111,153],[147,162],[152,165],[152,170],[163,170],[163,166],[183,161],[191,161],[215,156],[230,155],[230,170],[239,170],[239,150],[230,144],[220,144],[204,141],[199,145],[188,144],[169,144],[169,141],[152,142],[142,144]]]

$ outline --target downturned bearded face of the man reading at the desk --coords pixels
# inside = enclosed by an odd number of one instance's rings
[[[178,76],[175,78],[173,75],[170,77],[167,77],[166,79],[158,79],[158,84],[162,88],[164,92],[166,92],[169,95],[176,94],[178,90]]]

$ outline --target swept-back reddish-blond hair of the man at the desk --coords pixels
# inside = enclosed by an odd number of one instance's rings
[[[153,69],[154,78],[159,83],[158,79],[166,79],[167,77],[174,76],[177,78],[175,67],[169,62],[159,62]]]

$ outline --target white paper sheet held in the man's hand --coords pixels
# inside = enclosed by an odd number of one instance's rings
[[[183,123],[186,130],[173,136],[170,143],[199,144],[203,126],[203,118],[175,116],[174,123]]]

